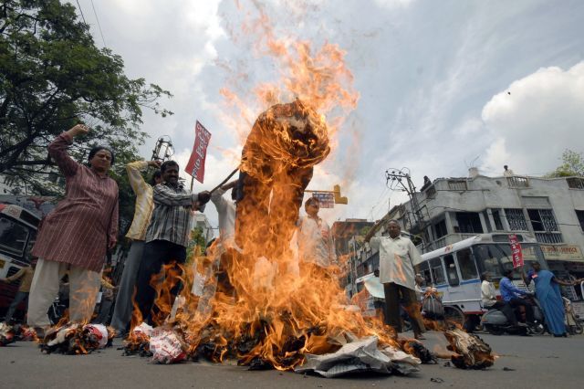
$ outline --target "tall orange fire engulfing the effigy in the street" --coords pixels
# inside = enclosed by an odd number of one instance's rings
[[[183,269],[183,303],[163,325],[182,334],[185,353],[193,358],[236,359],[255,369],[292,370],[308,354],[336,352],[368,336],[376,336],[380,348],[420,352],[421,343],[398,342],[390,327],[349,309],[338,268],[298,264],[290,249],[314,166],[336,146],[359,94],[338,46],[325,43],[314,50],[307,41],[277,38],[266,13],[259,7],[257,12],[247,26],[261,37],[258,51],[274,59],[281,79],[256,87],[254,96],[222,89],[241,122],[254,123],[240,161],[235,244],[214,245],[206,257],[194,258],[193,268]],[[263,113],[252,120],[253,106]],[[213,273],[209,268],[219,263],[226,285],[219,285],[211,299],[194,297],[194,273]],[[168,296],[174,284],[153,282],[162,319],[171,313]],[[207,281],[214,282],[213,277]],[[132,325],[140,322],[135,317]],[[130,345],[141,342],[136,336],[130,335]]]

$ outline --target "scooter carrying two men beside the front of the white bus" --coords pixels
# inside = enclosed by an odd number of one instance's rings
[[[488,310],[481,318],[483,329],[493,335],[502,335],[505,332],[513,335],[541,335],[546,331],[543,311],[539,301],[534,296],[529,296],[527,301],[533,307],[534,322],[525,326],[513,325],[501,310]]]

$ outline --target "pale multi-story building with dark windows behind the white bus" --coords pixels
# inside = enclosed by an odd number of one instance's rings
[[[527,177],[508,171],[486,177],[471,169],[469,177],[439,178],[414,195],[415,202],[393,207],[384,219],[399,220],[412,237],[419,237],[422,252],[476,234],[529,233],[559,278],[584,277],[583,177]],[[357,277],[360,265],[375,268],[376,253],[367,246],[354,256]]]

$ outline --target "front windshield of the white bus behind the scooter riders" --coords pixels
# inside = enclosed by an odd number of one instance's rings
[[[523,260],[526,271],[531,268],[531,263],[537,261],[542,268],[547,268],[543,260],[543,254],[537,244],[524,243],[521,245]],[[508,244],[484,244],[473,247],[474,258],[481,272],[488,271],[494,280],[503,278],[503,272],[506,269],[513,268],[513,259],[511,257],[511,247]],[[516,279],[520,279],[518,273]]]

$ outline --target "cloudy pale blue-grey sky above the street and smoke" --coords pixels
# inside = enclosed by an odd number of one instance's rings
[[[78,3],[78,4],[77,4]],[[333,150],[308,189],[341,185],[348,205],[323,209],[329,224],[376,220],[407,198],[385,172],[464,177],[469,167],[502,175],[542,175],[566,149],[584,152],[584,2],[579,0],[78,0],[98,47],[120,55],[130,78],[172,92],[172,110],[150,111],[141,147],[150,159],[168,135],[183,167],[194,123],[212,133],[204,183],[209,190],[238,164],[246,131],[262,107],[255,89],[287,72],[282,58],[258,49],[266,37],[343,50],[359,95],[331,134]],[[79,5],[79,6],[78,6]],[[80,7],[80,11],[79,11]],[[258,43],[259,42],[259,43]],[[234,91],[245,110],[225,99]],[[287,102],[287,101],[283,101]],[[251,122],[250,122],[251,121]],[[186,178],[187,174],[183,173]],[[190,178],[188,179],[190,182]],[[213,206],[205,210],[217,226]]]

